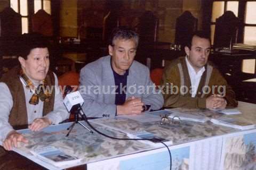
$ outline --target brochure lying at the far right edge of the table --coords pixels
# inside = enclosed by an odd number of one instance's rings
[[[214,124],[228,126],[231,128],[236,128],[241,130],[256,128],[255,124],[242,121],[242,120],[237,120],[236,118],[231,118],[231,117],[211,118],[210,121]]]

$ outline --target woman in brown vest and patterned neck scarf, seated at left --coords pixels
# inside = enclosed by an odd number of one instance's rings
[[[0,140],[5,150],[28,142],[14,126],[28,124],[31,131],[39,131],[69,117],[57,76],[49,71],[47,40],[37,33],[27,33],[17,46],[20,66],[0,79]],[[0,159],[8,154],[4,149],[0,147]]]

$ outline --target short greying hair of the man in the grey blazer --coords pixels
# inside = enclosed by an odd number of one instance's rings
[[[128,27],[117,27],[111,32],[109,39],[109,45],[114,46],[116,39],[130,40],[134,39],[136,46],[139,44],[139,35]]]

